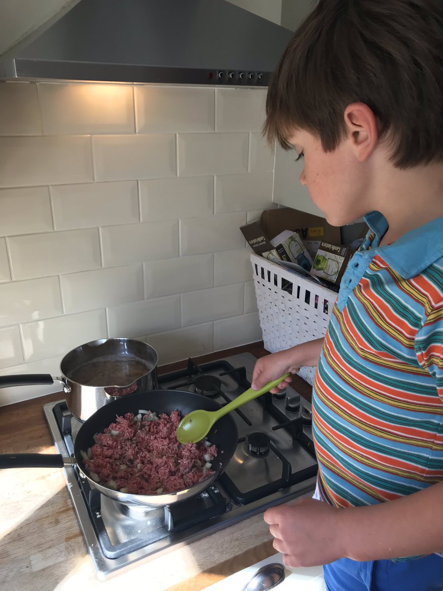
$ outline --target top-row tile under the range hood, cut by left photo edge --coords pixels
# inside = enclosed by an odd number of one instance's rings
[[[37,86],[0,84],[0,135],[39,135],[42,131]]]

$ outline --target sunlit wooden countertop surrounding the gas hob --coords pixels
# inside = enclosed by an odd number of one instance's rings
[[[249,351],[268,355],[254,343],[197,358],[210,361]],[[159,372],[181,366],[174,363]],[[295,378],[300,394],[311,400],[311,387]],[[0,452],[56,453],[42,408],[64,398],[63,392],[0,408]],[[172,550],[100,582],[60,469],[0,471],[0,580],[8,591],[121,591],[142,585],[149,591],[200,591],[237,570],[275,553],[262,515]]]

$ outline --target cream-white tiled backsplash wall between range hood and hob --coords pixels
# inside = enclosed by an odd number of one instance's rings
[[[265,95],[0,84],[0,374],[103,337],[161,364],[261,339],[239,226],[272,207]]]

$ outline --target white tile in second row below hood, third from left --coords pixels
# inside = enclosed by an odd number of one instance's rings
[[[246,173],[248,142],[246,133],[179,134],[178,174],[193,177]]]

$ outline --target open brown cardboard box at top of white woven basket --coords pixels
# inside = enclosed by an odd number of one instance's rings
[[[271,260],[291,261],[283,247],[271,244],[271,240],[284,230],[298,233],[312,259],[322,240],[340,244],[338,226],[331,226],[323,217],[300,212],[292,207],[266,209],[259,221],[247,223],[240,230],[256,254],[263,256],[263,253],[267,253],[266,258]]]

